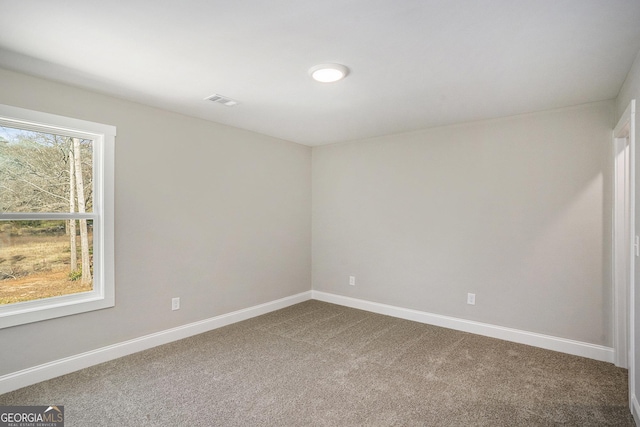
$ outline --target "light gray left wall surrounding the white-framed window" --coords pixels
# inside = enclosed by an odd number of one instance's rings
[[[310,289],[309,147],[5,70],[0,103],[118,132],[116,306],[0,329],[0,375]]]

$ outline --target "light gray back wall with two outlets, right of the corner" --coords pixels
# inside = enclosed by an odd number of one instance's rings
[[[611,346],[613,110],[315,147],[313,289]]]

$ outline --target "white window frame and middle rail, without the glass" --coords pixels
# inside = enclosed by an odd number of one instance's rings
[[[93,289],[0,305],[0,329],[115,305],[114,153],[116,128],[0,104],[0,125],[93,141],[93,212],[0,213],[2,220],[90,219],[93,221]]]

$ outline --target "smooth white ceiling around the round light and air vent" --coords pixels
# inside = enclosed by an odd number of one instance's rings
[[[639,49],[640,0],[0,0],[0,67],[307,145],[612,99]]]

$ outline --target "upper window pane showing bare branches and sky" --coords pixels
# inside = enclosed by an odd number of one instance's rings
[[[0,212],[92,212],[93,141],[0,126]]]

